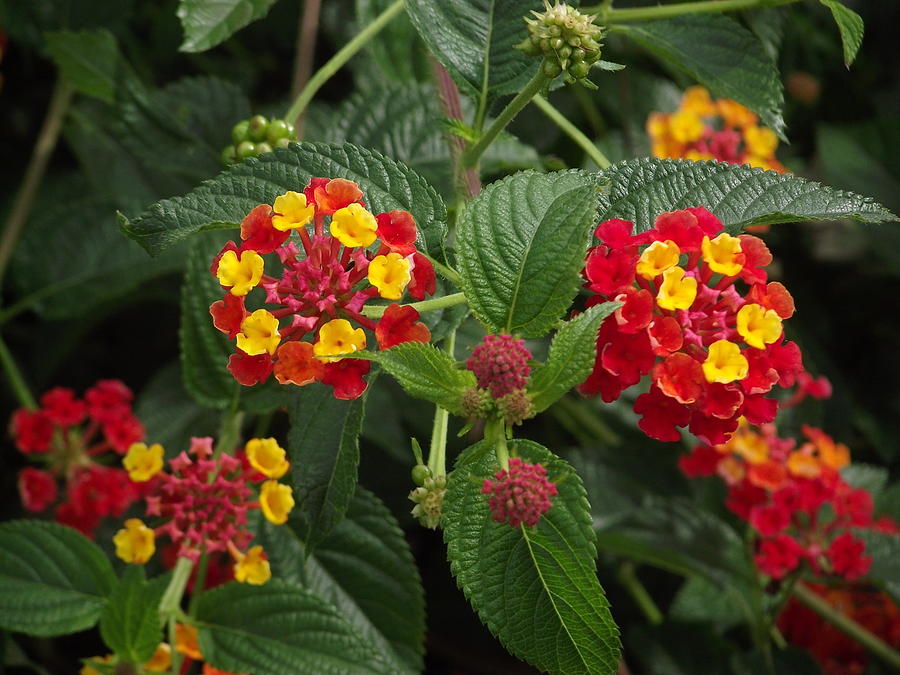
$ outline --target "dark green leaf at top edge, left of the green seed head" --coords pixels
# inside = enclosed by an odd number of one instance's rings
[[[524,18],[540,0],[407,0],[425,44],[463,93],[493,99],[519,91],[540,61],[513,46],[527,35]]]

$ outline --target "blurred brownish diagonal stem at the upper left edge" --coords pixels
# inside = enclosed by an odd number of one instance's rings
[[[31,159],[28,161],[28,167],[25,169],[22,187],[19,189],[19,195],[16,197],[9,217],[6,219],[3,235],[0,237],[0,280],[3,279],[6,266],[9,264],[9,259],[16,248],[16,242],[19,240],[19,235],[22,234],[22,228],[25,226],[25,221],[31,212],[31,205],[44,178],[44,172],[47,170],[50,156],[53,154],[54,148],[56,148],[59,131],[62,128],[62,122],[71,100],[72,88],[63,82],[62,78],[58,79],[53,88],[53,95],[50,98],[50,105],[47,107],[44,123],[41,125],[41,131],[34,144]]]

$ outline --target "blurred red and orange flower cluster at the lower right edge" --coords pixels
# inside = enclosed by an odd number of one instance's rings
[[[806,561],[815,574],[847,580],[872,564],[851,528],[900,532],[874,519],[872,495],[849,485],[840,470],[850,451],[820,429],[803,427],[806,442],[780,438],[774,425],[742,425],[725,444],[699,445],[679,460],[689,477],[718,475],[728,484],[725,505],[759,535],[759,569],[774,579]]]

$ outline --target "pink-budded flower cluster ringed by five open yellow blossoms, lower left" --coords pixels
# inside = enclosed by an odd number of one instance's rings
[[[135,444],[125,457],[132,480],[150,484],[147,515],[162,522],[150,528],[131,518],[116,534],[116,554],[126,562],[143,564],[156,550],[156,538],[167,535],[178,556],[197,561],[202,553],[228,552],[234,559],[234,578],[263,584],[271,577],[262,546],[248,550],[252,532],[247,514],[262,511],[277,525],[287,522],[294,506],[291,488],[278,482],[290,465],[273,438],[248,441],[243,457],[213,452],[212,438],[193,438],[188,452],[169,461],[163,471],[163,448]],[[250,485],[262,484],[258,493]]]

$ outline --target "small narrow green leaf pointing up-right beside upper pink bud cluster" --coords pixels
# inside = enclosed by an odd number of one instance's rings
[[[531,374],[528,392],[534,397],[535,412],[546,410],[569,389],[584,382],[596,359],[600,324],[619,306],[615,302],[595,305],[560,327],[550,343],[547,362]]]

